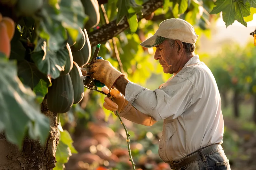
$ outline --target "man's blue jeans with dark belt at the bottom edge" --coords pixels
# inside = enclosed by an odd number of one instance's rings
[[[228,158],[220,144],[193,152],[170,164],[173,170],[230,170]]]

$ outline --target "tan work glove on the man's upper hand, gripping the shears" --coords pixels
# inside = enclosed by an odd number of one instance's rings
[[[116,70],[109,61],[103,59],[94,60],[90,67],[90,72],[93,73],[92,78],[104,83],[108,89],[111,89],[116,80],[124,75]]]

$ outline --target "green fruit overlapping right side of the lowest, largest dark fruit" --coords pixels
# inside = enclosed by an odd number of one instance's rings
[[[70,71],[69,75],[74,89],[74,104],[76,104],[84,97],[83,74],[76,62],[73,62],[73,69]]]

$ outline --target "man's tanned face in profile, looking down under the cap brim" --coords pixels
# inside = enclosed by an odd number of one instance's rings
[[[183,45],[181,41],[175,41],[173,48],[171,48],[169,41],[166,40],[156,46],[154,58],[159,60],[159,63],[164,68],[164,73],[178,73],[184,66],[184,55],[182,55],[182,52]]]

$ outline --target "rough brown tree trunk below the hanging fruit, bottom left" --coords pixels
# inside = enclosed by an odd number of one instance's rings
[[[41,111],[50,118],[50,135],[44,146],[37,140],[24,139],[21,150],[0,135],[0,170],[52,170],[56,164],[55,152],[59,143],[57,114],[50,112],[46,99]]]

